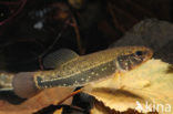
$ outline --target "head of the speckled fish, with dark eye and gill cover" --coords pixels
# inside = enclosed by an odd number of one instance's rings
[[[145,46],[125,46],[116,58],[118,70],[129,71],[150,60],[153,51]]]

